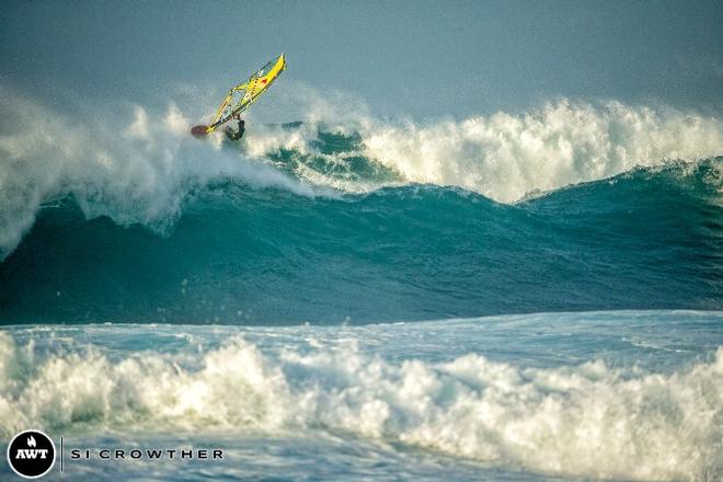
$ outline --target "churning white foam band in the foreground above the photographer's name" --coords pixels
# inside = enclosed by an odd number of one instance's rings
[[[390,362],[354,340],[263,353],[241,337],[173,357],[38,357],[0,333],[0,433],[308,429],[397,440],[550,474],[716,480],[723,347],[670,375],[589,362],[526,368],[469,354]],[[184,368],[186,367],[186,368]]]

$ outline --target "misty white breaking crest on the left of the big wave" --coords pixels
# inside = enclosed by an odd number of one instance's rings
[[[164,230],[195,187],[219,177],[277,186],[299,195],[313,190],[248,157],[221,149],[220,139],[198,142],[175,104],[149,111],[139,105],[79,106],[55,113],[0,85],[0,259],[12,251],[38,208],[72,196],[87,217],[111,216]],[[42,122],[38,122],[42,119]]]

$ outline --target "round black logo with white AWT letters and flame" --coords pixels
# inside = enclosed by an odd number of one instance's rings
[[[53,468],[55,445],[43,432],[21,432],[10,440],[8,462],[18,475],[36,479],[45,475]]]

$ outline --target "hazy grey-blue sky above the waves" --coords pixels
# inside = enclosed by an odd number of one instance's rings
[[[133,102],[225,90],[280,51],[288,85],[417,117],[559,96],[723,112],[723,2],[1,2],[0,82]],[[286,120],[286,119],[284,119]]]

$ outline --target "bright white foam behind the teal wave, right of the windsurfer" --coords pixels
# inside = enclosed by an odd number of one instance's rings
[[[723,153],[723,124],[672,108],[563,100],[524,115],[497,113],[422,126],[370,123],[365,152],[418,183],[460,186],[510,203],[668,159]]]

